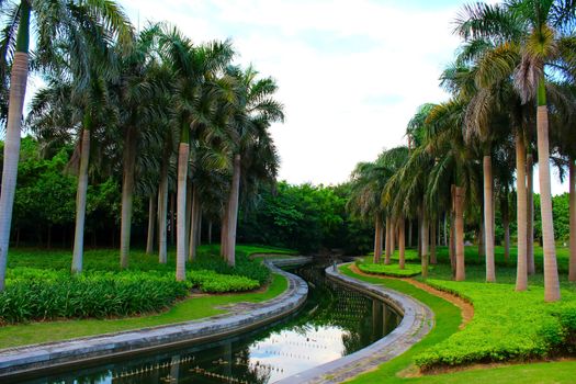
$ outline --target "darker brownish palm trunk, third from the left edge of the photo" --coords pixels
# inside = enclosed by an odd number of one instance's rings
[[[120,223],[120,267],[128,268],[129,240],[132,231],[132,206],[134,197],[134,168],[136,143],[133,128],[126,132],[124,148],[124,176],[122,180],[122,216]]]

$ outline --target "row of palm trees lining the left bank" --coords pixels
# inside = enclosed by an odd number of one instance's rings
[[[24,122],[43,145],[76,146],[78,174],[71,271],[82,271],[87,190],[91,179],[121,174],[120,264],[129,262],[135,193],[149,201],[148,247],[158,237],[167,262],[168,196],[174,191],[177,280],[195,256],[201,218],[222,217],[223,257],[235,264],[242,199],[275,179],[279,158],[269,127],[282,121],[272,78],[233,65],[230,42],[193,44],[177,29],[136,33],[112,1],[3,1],[3,82],[10,87],[0,199],[0,290]],[[30,26],[34,24],[34,34]],[[18,33],[16,33],[18,32]],[[29,59],[29,41],[35,52]],[[46,79],[23,118],[29,70]],[[2,109],[4,111],[4,109]],[[5,117],[4,117],[5,116]],[[172,228],[173,230],[173,228]]]

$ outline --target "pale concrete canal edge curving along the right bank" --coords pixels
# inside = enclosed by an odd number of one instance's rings
[[[338,267],[340,266],[343,264]],[[404,353],[433,328],[432,310],[411,296],[347,276],[334,267],[326,269],[326,276],[384,301],[403,315],[403,319],[391,334],[366,348],[285,377],[278,381],[278,384],[341,383],[363,372],[374,370],[377,365]]]

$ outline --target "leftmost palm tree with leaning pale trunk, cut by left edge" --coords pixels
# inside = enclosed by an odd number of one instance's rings
[[[0,291],[4,289],[20,151],[20,127],[29,75],[30,27],[32,23],[35,23],[33,26],[37,31],[38,61],[46,66],[54,63],[52,58],[56,56],[56,45],[53,43],[58,41],[71,43],[69,57],[74,67],[82,68],[86,65],[83,63],[86,52],[90,50],[89,47],[94,38],[102,37],[87,33],[92,32],[86,31],[87,24],[84,22],[87,20],[93,20],[105,26],[106,35],[117,36],[123,43],[127,43],[132,35],[132,27],[127,18],[113,1],[21,0],[19,3],[5,1],[2,3],[2,8],[4,7],[18,9],[18,11],[12,11],[14,18],[9,21],[10,25],[7,26],[11,31],[18,30],[18,33],[16,38],[9,41],[13,48],[2,49],[4,54],[13,53],[13,55],[10,55],[8,59],[3,58],[3,63],[11,63],[11,74],[0,195]]]

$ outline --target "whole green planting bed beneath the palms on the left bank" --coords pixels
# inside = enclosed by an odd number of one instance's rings
[[[133,252],[129,269],[120,270],[116,252],[86,252],[81,275],[69,272],[67,251],[12,250],[7,286],[0,293],[0,324],[60,318],[104,318],[149,314],[166,309],[196,289],[204,293],[246,292],[270,280],[253,251],[290,253],[266,247],[238,247],[236,268],[229,267],[216,247],[201,247],[189,264],[185,281],[176,281],[173,258],[167,264],[155,256]]]

